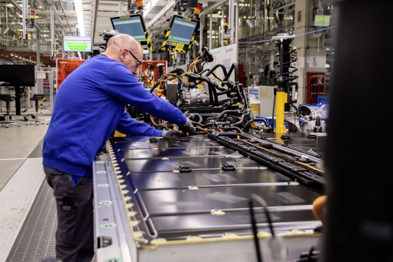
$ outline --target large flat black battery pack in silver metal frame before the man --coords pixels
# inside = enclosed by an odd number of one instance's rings
[[[256,261],[251,194],[267,203],[282,260],[298,259],[320,238],[311,209],[323,158],[278,140],[230,131],[108,140],[93,163],[97,261]],[[272,261],[263,207],[253,210]]]

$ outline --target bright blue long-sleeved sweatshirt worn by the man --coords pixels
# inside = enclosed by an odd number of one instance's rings
[[[43,165],[91,176],[91,165],[113,130],[129,136],[161,136],[162,131],[131,118],[130,104],[170,123],[184,125],[181,111],[149,93],[128,68],[104,55],[88,59],[59,87],[44,138]]]

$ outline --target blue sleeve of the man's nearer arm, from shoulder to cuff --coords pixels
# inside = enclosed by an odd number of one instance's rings
[[[187,117],[179,109],[143,88],[130,70],[120,63],[113,65],[108,72],[102,89],[150,115],[180,126],[186,124]]]

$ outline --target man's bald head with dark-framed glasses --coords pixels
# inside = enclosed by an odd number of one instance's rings
[[[133,74],[137,73],[136,66],[139,63],[133,56],[140,61],[143,58],[139,43],[128,34],[112,36],[108,41],[104,55],[124,64]]]

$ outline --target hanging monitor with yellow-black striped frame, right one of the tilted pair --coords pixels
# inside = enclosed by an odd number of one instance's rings
[[[162,49],[188,53],[198,27],[196,19],[172,15]]]

